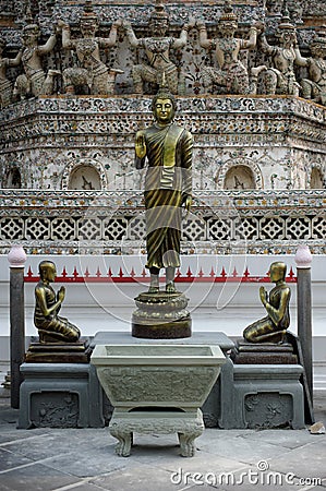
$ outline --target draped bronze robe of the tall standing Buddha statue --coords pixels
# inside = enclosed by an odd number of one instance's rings
[[[192,193],[193,139],[177,124],[154,124],[143,133],[148,159],[144,193],[146,267],[179,267],[181,205]],[[136,167],[144,165],[145,157],[136,157]]]

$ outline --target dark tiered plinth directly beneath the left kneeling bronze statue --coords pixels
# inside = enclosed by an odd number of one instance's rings
[[[88,363],[90,355],[88,339],[76,343],[32,342],[25,361],[26,363]]]

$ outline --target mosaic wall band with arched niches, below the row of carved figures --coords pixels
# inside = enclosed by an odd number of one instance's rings
[[[293,97],[178,97],[194,135],[194,189],[325,188],[325,108]],[[40,97],[0,116],[2,188],[141,190],[134,134],[150,99]],[[21,179],[13,185],[13,172]]]

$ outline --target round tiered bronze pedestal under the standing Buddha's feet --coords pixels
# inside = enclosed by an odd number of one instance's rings
[[[132,315],[132,336],[146,339],[191,337],[189,299],[177,291],[144,292],[135,298],[137,309]]]

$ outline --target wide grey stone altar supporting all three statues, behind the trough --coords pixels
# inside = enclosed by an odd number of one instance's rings
[[[202,406],[207,428],[304,428],[301,364],[234,366],[229,357],[234,344],[221,332],[198,332],[190,338],[160,343],[219,346],[226,355],[220,376]],[[128,332],[98,332],[92,347],[104,344],[155,345],[157,340],[134,338]],[[100,387],[94,367],[24,363],[21,370],[25,380],[21,386],[20,428],[100,428],[109,423],[113,407]]]

